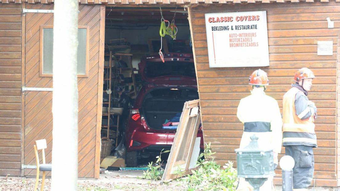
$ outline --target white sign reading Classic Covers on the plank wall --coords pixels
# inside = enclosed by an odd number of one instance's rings
[[[210,67],[269,66],[266,11],[205,14]]]

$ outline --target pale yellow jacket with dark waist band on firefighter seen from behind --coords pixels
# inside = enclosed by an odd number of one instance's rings
[[[237,117],[244,124],[240,148],[244,148],[256,135],[263,149],[273,149],[280,153],[282,147],[282,118],[277,101],[254,88],[252,94],[241,99],[237,107]]]

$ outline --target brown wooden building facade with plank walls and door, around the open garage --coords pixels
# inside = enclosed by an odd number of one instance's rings
[[[258,67],[209,68],[204,14],[266,11],[270,66],[261,67],[270,79],[266,92],[282,106],[294,72],[301,67],[312,69],[317,78],[308,97],[318,107],[319,145],[314,149],[313,180],[316,186],[340,186],[337,1],[80,0],[79,25],[88,27],[89,62],[88,76],[78,78],[79,176],[99,176],[105,6],[181,6],[189,7],[204,139],[217,152],[215,158],[220,163],[236,159],[234,150],[242,135],[236,109],[239,100],[250,94],[248,78]],[[21,89],[52,87],[51,77],[39,74],[39,34],[40,26],[53,25],[53,14],[22,14],[22,9],[51,10],[53,0],[0,2],[0,175],[32,175],[32,169],[21,167],[34,164],[34,140],[47,139],[47,160],[51,160],[52,93]],[[327,17],[334,21],[334,28],[327,27]],[[317,55],[317,42],[323,40],[333,41],[333,55]]]

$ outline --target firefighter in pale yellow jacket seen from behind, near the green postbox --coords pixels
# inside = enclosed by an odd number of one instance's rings
[[[258,144],[263,149],[273,149],[274,163],[277,166],[277,154],[282,147],[282,118],[277,101],[264,92],[269,85],[267,73],[261,69],[255,70],[249,77],[252,86],[251,95],[241,99],[237,107],[237,117],[243,123],[243,134],[240,148],[244,148],[256,135]],[[276,168],[276,167],[275,167]],[[273,190],[273,177],[260,187],[260,191]],[[236,191],[252,191],[244,178],[240,178]]]

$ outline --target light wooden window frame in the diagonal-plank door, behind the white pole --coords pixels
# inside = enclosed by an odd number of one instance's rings
[[[52,77],[53,74],[43,74],[43,54],[44,54],[44,45],[43,45],[43,39],[44,39],[44,29],[46,28],[53,28],[53,25],[40,25],[40,60],[39,60],[39,76],[40,77]],[[78,29],[86,29],[86,60],[85,60],[85,74],[77,74],[77,77],[88,77],[88,62],[89,62],[89,26],[84,26],[84,25],[80,25],[78,26]]]

